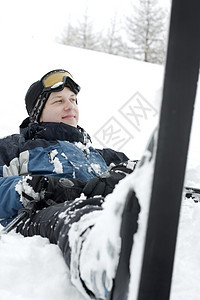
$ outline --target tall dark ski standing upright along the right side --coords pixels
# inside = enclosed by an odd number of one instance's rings
[[[200,2],[173,0],[138,300],[170,297],[199,61]]]

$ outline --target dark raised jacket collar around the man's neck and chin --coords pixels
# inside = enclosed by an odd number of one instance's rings
[[[20,125],[20,133],[26,140],[45,139],[61,140],[68,142],[81,142],[87,144],[91,141],[90,136],[80,126],[73,127],[64,123],[30,123],[29,118]]]

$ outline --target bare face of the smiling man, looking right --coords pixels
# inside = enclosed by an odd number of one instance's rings
[[[62,122],[77,127],[79,111],[76,100],[76,94],[67,87],[62,91],[51,93],[42,111],[40,122]]]

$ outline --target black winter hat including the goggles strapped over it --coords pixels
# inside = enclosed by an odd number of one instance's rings
[[[69,87],[76,95],[80,91],[80,86],[74,81],[72,75],[63,69],[48,72],[29,87],[25,103],[31,122],[39,121],[49,95],[52,92],[63,90],[64,87]]]

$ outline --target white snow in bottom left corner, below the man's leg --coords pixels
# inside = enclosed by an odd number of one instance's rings
[[[14,232],[0,240],[0,299],[80,300],[62,253],[45,238]]]

